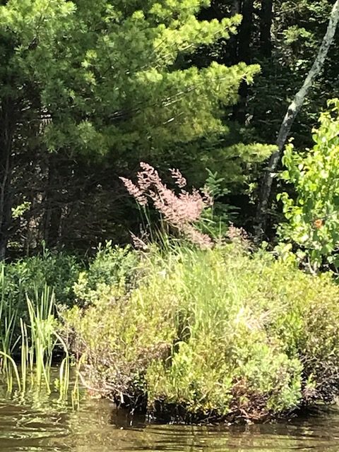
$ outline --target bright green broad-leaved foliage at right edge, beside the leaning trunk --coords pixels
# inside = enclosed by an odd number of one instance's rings
[[[324,263],[339,268],[339,100],[328,108],[314,130],[312,149],[298,154],[292,143],[287,146],[282,177],[294,184],[297,196],[278,196],[287,219],[280,234],[297,246],[297,256],[311,271]]]

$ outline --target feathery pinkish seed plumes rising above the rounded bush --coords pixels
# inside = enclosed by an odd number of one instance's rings
[[[148,165],[140,163],[141,170],[137,173],[137,181],[133,183],[130,179],[120,177],[127,191],[145,209],[153,206],[160,213],[162,222],[182,237],[201,248],[213,246],[212,239],[208,234],[198,230],[198,222],[201,220],[203,211],[213,206],[213,197],[207,189],[198,191],[193,189],[191,193],[186,191],[186,179],[179,169],[169,169],[171,177],[177,186],[176,191],[169,189],[160,178],[157,170]],[[138,237],[133,237],[134,242],[140,246],[143,242]]]

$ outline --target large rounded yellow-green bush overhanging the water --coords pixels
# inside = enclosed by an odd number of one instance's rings
[[[195,421],[262,419],[338,392],[330,278],[234,244],[153,248],[140,266],[137,286],[112,280],[65,314],[65,335],[103,396]]]

